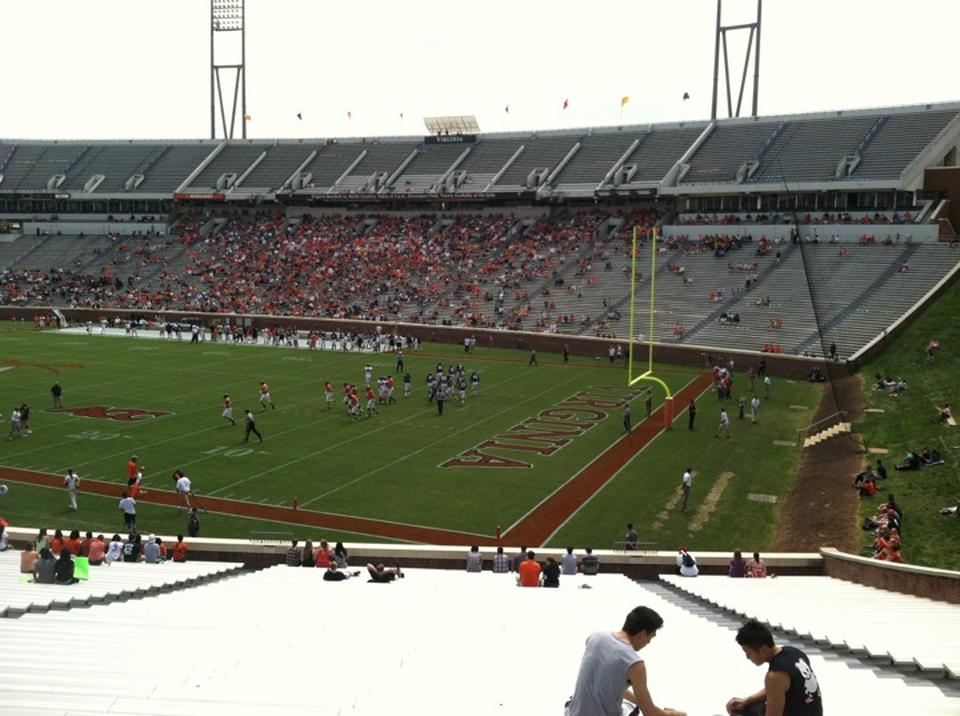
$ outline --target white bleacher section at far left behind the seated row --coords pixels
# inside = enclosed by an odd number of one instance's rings
[[[131,597],[157,594],[224,575],[236,571],[239,567],[239,564],[228,562],[117,562],[109,566],[91,567],[90,579],[76,584],[33,584],[21,581],[23,575],[20,574],[20,552],[8,550],[0,554],[0,617],[107,604]],[[3,631],[4,626],[0,625],[0,633]]]

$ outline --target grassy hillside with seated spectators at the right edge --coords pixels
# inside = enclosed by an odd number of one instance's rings
[[[867,407],[883,410],[868,413],[855,429],[868,447],[886,448],[880,457],[890,479],[872,500],[863,500],[861,517],[873,513],[886,499],[897,496],[904,510],[903,556],[908,562],[931,567],[960,569],[960,520],[940,515],[940,510],[960,502],[960,428],[934,421],[937,407],[954,406],[957,414],[957,375],[960,375],[960,291],[950,289],[899,336],[885,352],[861,371]],[[930,339],[941,342],[934,360],[927,362]],[[875,373],[902,376],[908,388],[899,397],[871,389]],[[937,448],[946,464],[916,472],[896,472],[909,449]],[[872,552],[871,535],[863,533],[864,554]]]

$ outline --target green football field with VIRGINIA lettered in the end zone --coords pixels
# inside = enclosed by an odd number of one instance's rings
[[[306,510],[493,535],[498,525],[506,530],[520,520],[623,431],[621,410],[611,409],[606,419],[551,455],[485,449],[529,468],[441,467],[581,391],[614,388],[625,393],[624,368],[592,356],[563,364],[559,356],[541,355],[539,367],[528,367],[526,353],[480,349],[467,356],[456,346],[426,345],[421,354],[406,356],[413,396],[404,399],[398,381],[396,404],[381,406],[378,416],[355,423],[345,415],[340,385],[362,385],[362,366],[368,362],[375,377],[392,372],[392,355],[32,330],[0,332],[0,345],[0,368],[13,366],[0,372],[0,390],[8,403],[4,425],[9,425],[14,404],[25,400],[33,406],[33,434],[3,440],[0,464],[57,474],[73,467],[81,478],[117,483],[118,493],[125,484],[127,459],[136,453],[147,489],[172,489],[170,474],[181,468],[200,495],[272,505],[290,505],[296,497]],[[425,375],[438,360],[463,362],[468,373],[475,369],[481,375],[479,394],[470,395],[462,407],[449,401],[442,417],[426,401],[424,389]],[[695,375],[690,369],[661,369],[673,390]],[[729,407],[731,440],[713,437],[717,399],[711,392],[702,396],[696,431],[687,430],[686,415],[681,415],[674,430],[657,437],[560,526],[550,544],[610,548],[631,521],[643,539],[662,548],[683,542],[697,549],[765,549],[779,510],[779,502],[769,500],[779,500],[789,489],[800,457],[798,448],[773,441],[794,440],[819,401],[818,387],[774,378],[772,400],[764,401],[758,425],[738,421],[736,406]],[[169,415],[118,422],[52,413],[49,388],[54,380],[64,387],[65,407],[111,406]],[[269,382],[277,410],[260,409],[260,380]],[[336,390],[329,411],[323,395],[327,380]],[[745,389],[743,380],[740,375],[735,395]],[[262,446],[243,444],[242,427],[231,427],[220,417],[223,393],[233,396],[236,417],[246,407],[255,409]],[[662,396],[655,395],[658,404]],[[642,400],[633,402],[633,415],[635,423],[643,418]],[[687,465],[698,478],[691,510],[684,515],[671,499]],[[81,494],[80,511],[72,513],[62,490],[8,484],[0,514],[11,524],[105,532],[120,526],[112,498]],[[184,523],[170,507],[141,504],[139,512],[143,532],[176,533]],[[242,538],[253,531],[385,541],[375,534],[323,530],[321,535],[315,528],[227,515],[203,519],[204,536]]]

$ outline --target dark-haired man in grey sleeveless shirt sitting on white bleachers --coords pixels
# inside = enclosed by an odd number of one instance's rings
[[[649,607],[636,607],[619,631],[599,631],[587,637],[573,697],[565,716],[608,716],[632,713],[644,716],[686,716],[683,711],[659,708],[647,688],[647,670],[637,652],[653,641],[663,618]]]

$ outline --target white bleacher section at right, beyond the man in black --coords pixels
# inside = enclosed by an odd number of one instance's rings
[[[661,576],[743,617],[834,648],[960,678],[960,606],[831,577]],[[922,713],[917,711],[916,713]]]

